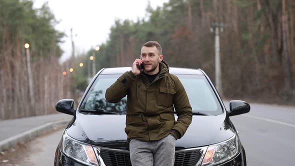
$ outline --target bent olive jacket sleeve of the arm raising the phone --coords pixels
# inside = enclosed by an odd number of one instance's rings
[[[127,89],[130,87],[132,81],[136,79],[133,72],[126,71],[123,73],[112,85],[105,91],[105,99],[108,102],[119,102],[127,94]]]

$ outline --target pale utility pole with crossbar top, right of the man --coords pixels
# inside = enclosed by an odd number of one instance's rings
[[[220,47],[219,47],[219,31],[223,31],[223,23],[212,23],[211,32],[215,32],[215,85],[219,95],[222,96],[222,78],[221,78],[221,62],[220,62]]]

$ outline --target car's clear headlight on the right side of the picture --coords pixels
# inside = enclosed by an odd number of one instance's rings
[[[235,157],[239,151],[238,137],[234,134],[226,141],[209,145],[201,165],[209,166],[225,162]]]

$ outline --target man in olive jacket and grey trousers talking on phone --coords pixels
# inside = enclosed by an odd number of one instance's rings
[[[160,44],[148,41],[140,53],[132,69],[106,90],[105,98],[118,102],[127,95],[125,132],[133,166],[173,165],[175,141],[191,122],[191,106],[180,80],[168,72]]]

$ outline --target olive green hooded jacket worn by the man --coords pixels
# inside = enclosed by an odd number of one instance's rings
[[[118,102],[127,95],[125,132],[128,140],[159,140],[169,133],[177,139],[191,123],[191,106],[182,83],[168,72],[169,66],[164,60],[159,63],[159,70],[151,83],[143,73],[135,76],[127,71],[106,89],[108,102]]]

